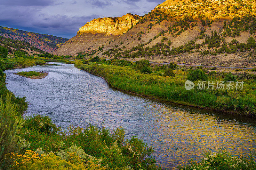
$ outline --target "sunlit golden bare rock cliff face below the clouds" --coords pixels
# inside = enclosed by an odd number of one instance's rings
[[[82,26],[77,32],[77,35],[82,35],[85,33],[122,34],[123,32],[127,31],[132,25],[135,25],[139,21],[139,19],[139,16],[134,16],[131,14],[126,14],[120,18],[107,17],[93,19],[92,21]]]

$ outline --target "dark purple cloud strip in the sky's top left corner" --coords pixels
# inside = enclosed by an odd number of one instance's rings
[[[53,4],[52,0],[2,0],[1,5],[11,6],[48,6]]]

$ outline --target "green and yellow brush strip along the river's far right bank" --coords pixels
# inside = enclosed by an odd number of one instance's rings
[[[204,109],[219,110],[241,115],[256,116],[256,82],[246,77],[229,75],[228,73],[208,73],[207,83],[220,82],[232,78],[236,81],[244,81],[243,89],[194,89],[186,90],[185,82],[188,80],[190,71],[195,70],[192,67],[175,68],[175,76],[164,76],[167,68],[150,67],[150,74],[144,74],[139,69],[140,63],[129,63],[129,61],[98,60],[97,63],[83,64],[81,60],[69,61],[69,64],[75,64],[75,67],[85,70],[91,74],[104,78],[108,84],[116,89],[131,92],[141,96],[147,96],[158,100],[164,100],[172,103],[193,106]],[[87,62],[84,62],[87,63]],[[121,64],[120,64],[121,63]],[[122,64],[123,63],[123,64]],[[122,65],[122,66],[118,66]],[[145,70],[145,68],[142,69]],[[147,70],[147,69],[146,69]],[[152,73],[153,71],[153,73]],[[212,72],[212,71],[211,71]],[[236,78],[237,77],[237,78]],[[194,81],[198,83],[200,80]],[[226,82],[227,83],[227,82]]]

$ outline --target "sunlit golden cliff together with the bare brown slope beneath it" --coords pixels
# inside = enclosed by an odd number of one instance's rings
[[[97,18],[82,26],[77,35],[69,39],[52,54],[76,55],[81,51],[98,50],[108,46],[140,21],[140,16],[126,14],[118,18]]]

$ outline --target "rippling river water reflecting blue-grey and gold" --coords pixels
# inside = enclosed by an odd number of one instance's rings
[[[49,72],[44,79],[15,75],[20,71]],[[201,160],[205,151],[227,150],[235,155],[256,151],[256,120],[195,109],[130,95],[105,80],[65,63],[6,70],[7,88],[26,96],[25,116],[49,116],[67,128],[89,124],[112,129],[122,126],[125,137],[136,135],[154,147],[157,164],[176,169],[188,159]]]

